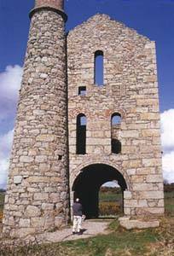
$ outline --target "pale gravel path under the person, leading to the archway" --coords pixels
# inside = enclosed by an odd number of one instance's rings
[[[39,243],[42,242],[57,242],[57,241],[71,241],[79,238],[87,238],[96,236],[98,234],[108,234],[107,226],[109,221],[96,221],[96,220],[85,220],[82,225],[83,234],[73,235],[72,227],[64,230],[57,230],[55,232],[47,232],[42,235],[36,236]]]

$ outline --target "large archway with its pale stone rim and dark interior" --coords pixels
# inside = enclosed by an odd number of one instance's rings
[[[107,160],[88,161],[87,165],[86,163],[78,165],[73,174],[71,185],[72,201],[76,197],[81,199],[84,214],[88,218],[98,217],[98,196],[103,183],[118,180],[123,199],[125,190],[130,189],[129,177],[127,177],[126,172],[119,172],[118,166]]]

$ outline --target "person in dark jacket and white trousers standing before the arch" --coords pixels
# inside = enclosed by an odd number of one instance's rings
[[[82,211],[82,205],[79,198],[76,198],[73,203],[73,234],[78,233],[78,235],[81,235]]]

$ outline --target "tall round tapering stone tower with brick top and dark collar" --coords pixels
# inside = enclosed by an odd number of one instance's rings
[[[67,224],[67,70],[63,0],[36,0],[20,90],[3,232]]]

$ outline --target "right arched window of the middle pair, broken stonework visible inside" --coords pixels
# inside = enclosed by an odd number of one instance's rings
[[[121,125],[120,113],[113,113],[111,117],[111,152],[119,154],[121,152],[121,143],[119,142],[119,129]]]

